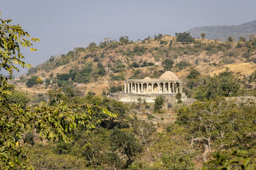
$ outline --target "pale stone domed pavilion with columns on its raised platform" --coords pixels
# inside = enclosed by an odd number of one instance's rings
[[[109,94],[109,98],[122,102],[136,102],[142,99],[147,103],[154,103],[157,96],[163,96],[166,103],[176,103],[176,94],[181,94],[182,101],[186,101],[184,94],[183,82],[172,72],[166,71],[159,79],[126,80],[124,81],[124,92]]]

